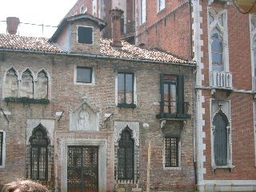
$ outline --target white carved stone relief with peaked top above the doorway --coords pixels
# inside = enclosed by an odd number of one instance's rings
[[[70,130],[99,130],[99,110],[92,108],[88,102],[83,101],[75,110],[70,110],[69,114]]]

